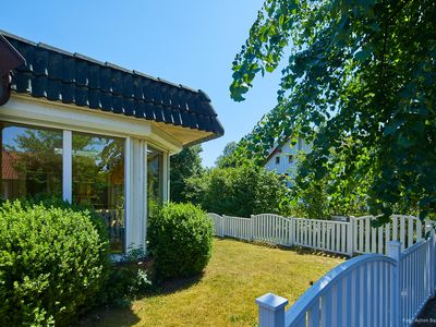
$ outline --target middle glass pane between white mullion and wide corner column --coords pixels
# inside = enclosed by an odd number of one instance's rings
[[[124,250],[124,140],[73,132],[73,202],[101,214],[113,253]]]

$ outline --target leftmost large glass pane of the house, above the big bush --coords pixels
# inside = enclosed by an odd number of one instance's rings
[[[62,131],[0,122],[1,197],[62,196]]]

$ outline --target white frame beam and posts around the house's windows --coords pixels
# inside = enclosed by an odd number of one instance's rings
[[[62,197],[72,202],[72,133],[82,132],[95,135],[120,137],[125,140],[124,148],[124,210],[125,244],[143,246],[146,251],[146,173],[147,146],[164,154],[162,201],[169,201],[169,155],[179,153],[183,145],[171,135],[164,133],[155,123],[137,118],[125,117],[74,105],[64,105],[36,99],[31,96],[15,95],[2,106],[0,120],[35,128],[56,129],[63,132],[62,137]],[[140,142],[140,154],[134,153],[134,142]],[[134,158],[142,158],[142,181],[134,183]],[[143,186],[138,186],[138,185]],[[133,190],[135,187],[135,190]],[[132,203],[134,195],[140,202]],[[137,209],[133,210],[133,206]],[[136,216],[136,217],[135,217]],[[142,219],[141,219],[142,218]],[[140,233],[133,231],[138,230]],[[125,249],[124,249],[125,251]]]

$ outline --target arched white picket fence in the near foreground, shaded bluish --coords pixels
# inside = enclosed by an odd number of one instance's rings
[[[389,241],[388,256],[356,256],[330,270],[287,312],[288,300],[267,293],[256,300],[259,327],[411,326],[436,290],[436,237],[404,252]]]

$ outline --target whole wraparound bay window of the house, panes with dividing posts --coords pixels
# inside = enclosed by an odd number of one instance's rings
[[[149,147],[147,160],[135,161],[140,173],[132,180],[132,168],[125,168],[135,167],[133,158],[144,156],[140,152],[146,147],[144,141],[138,141],[144,147],[134,147],[131,138],[1,121],[0,128],[2,198],[49,194],[90,205],[106,222],[112,253],[125,252],[132,240],[142,244],[141,232],[133,232],[132,228],[141,228],[141,220],[153,216],[166,198],[168,164],[162,152]],[[138,181],[144,185],[140,187]],[[131,195],[125,198],[126,191],[136,194],[138,201]],[[126,205],[131,206],[129,210]]]

